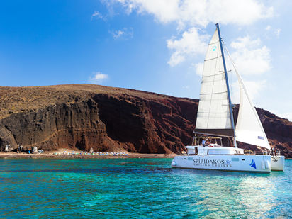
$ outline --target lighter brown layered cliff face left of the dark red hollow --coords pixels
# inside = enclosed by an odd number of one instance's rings
[[[60,147],[89,150],[93,142],[104,145],[106,127],[99,119],[97,104],[87,99],[11,113],[1,120],[0,136],[1,147],[9,144],[14,148],[23,145],[45,150]]]

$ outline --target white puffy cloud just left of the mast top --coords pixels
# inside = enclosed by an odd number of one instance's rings
[[[190,28],[183,33],[181,39],[167,40],[167,47],[173,51],[168,64],[173,67],[184,62],[186,57],[205,54],[208,38],[209,35],[200,35],[197,28]]]

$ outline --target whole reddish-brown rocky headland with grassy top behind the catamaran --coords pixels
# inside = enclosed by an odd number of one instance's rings
[[[191,144],[198,109],[196,99],[92,84],[1,87],[0,95],[1,150],[23,145],[43,150],[177,152]],[[291,157],[292,123],[257,111],[271,144]]]

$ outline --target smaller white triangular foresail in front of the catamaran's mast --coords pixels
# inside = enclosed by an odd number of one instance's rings
[[[227,48],[225,50],[228,52]],[[228,52],[230,57],[230,54]],[[247,89],[242,80],[242,77],[235,67],[235,63],[232,62],[233,67],[235,68],[235,73],[237,75],[238,82],[240,84],[240,110],[237,116],[237,124],[235,127],[235,138],[239,142],[245,142],[250,145],[257,145],[264,147],[268,150],[271,150],[269,145],[269,140],[266,137],[262,122],[259,119],[259,115],[252,103],[252,100],[249,98]]]

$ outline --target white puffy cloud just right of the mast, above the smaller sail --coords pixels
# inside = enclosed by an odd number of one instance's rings
[[[237,38],[230,44],[235,52],[231,57],[240,74],[262,74],[271,69],[270,50],[261,46],[261,40],[252,40],[249,36]]]

